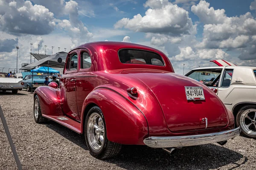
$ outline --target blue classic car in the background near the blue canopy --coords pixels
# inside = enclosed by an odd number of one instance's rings
[[[26,75],[26,77],[24,77],[22,81],[24,83],[24,88],[26,88],[27,91],[32,91],[32,88],[33,90],[35,90],[36,88],[44,85],[44,81],[46,77],[47,76],[43,76],[43,75],[33,75],[33,80],[32,80],[32,74]],[[48,81],[51,82],[52,80],[49,79]]]

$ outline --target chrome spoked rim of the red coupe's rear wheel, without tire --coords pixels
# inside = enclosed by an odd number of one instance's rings
[[[105,127],[102,118],[94,112],[87,122],[87,136],[90,146],[94,150],[99,150],[104,142]]]

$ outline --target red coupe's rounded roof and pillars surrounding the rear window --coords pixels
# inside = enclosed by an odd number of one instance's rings
[[[155,48],[148,47],[145,45],[130,43],[130,42],[115,42],[115,41],[98,41],[89,42],[83,45],[79,45],[69,52],[68,55],[72,54],[73,51],[79,51],[81,48],[86,49],[91,54],[91,59],[94,61],[91,65],[91,71],[106,71],[106,70],[117,70],[117,69],[157,69],[169,72],[174,72],[172,64],[166,54]],[[150,65],[150,64],[125,64],[120,62],[118,51],[120,49],[137,49],[140,51],[150,51],[160,55],[165,62],[164,66]],[[81,50],[83,51],[83,50]],[[68,57],[67,57],[68,59]],[[65,70],[64,70],[65,72]]]

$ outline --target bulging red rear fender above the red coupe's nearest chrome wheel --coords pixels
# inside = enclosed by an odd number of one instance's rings
[[[102,110],[109,141],[119,144],[144,144],[143,139],[148,136],[147,120],[128,99],[108,88],[97,88],[86,97],[81,120],[86,119],[87,113],[84,111],[92,103]],[[81,125],[82,130],[83,127]]]

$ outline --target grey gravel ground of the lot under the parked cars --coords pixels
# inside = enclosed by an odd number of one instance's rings
[[[90,156],[84,137],[53,121],[36,124],[33,94],[0,92],[0,105],[24,170],[175,170],[256,169],[256,140],[239,136],[226,145],[185,147],[170,156],[161,149],[124,146],[121,155],[108,160]],[[17,169],[0,122],[0,169]]]

